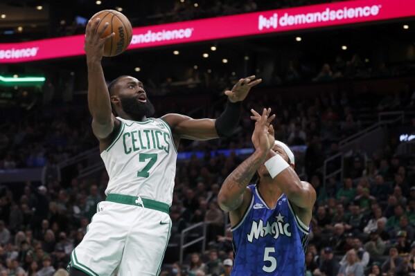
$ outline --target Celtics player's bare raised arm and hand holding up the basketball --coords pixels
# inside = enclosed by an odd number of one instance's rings
[[[98,28],[100,19],[89,20],[85,32],[84,50],[87,53],[88,67],[88,107],[92,115],[92,129],[95,136],[103,140],[114,130],[115,117],[112,115],[111,101],[105,83],[103,66],[104,44],[114,33],[101,39],[108,24]]]

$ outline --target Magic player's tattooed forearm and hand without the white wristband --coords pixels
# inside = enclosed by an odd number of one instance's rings
[[[272,146],[267,133],[267,110],[264,109],[261,118],[255,123],[254,133],[252,134],[252,142],[256,145],[254,154],[236,167],[220,188],[218,203],[222,210],[233,211],[242,205],[249,181],[264,162]]]

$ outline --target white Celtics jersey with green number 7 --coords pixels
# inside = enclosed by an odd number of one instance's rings
[[[141,196],[170,206],[177,158],[170,126],[156,118],[117,119],[118,134],[101,153],[109,175],[105,194]]]

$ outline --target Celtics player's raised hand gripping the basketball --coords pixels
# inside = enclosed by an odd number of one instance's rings
[[[115,33],[111,33],[104,38],[101,38],[105,29],[108,27],[108,23],[100,26],[100,19],[94,19],[94,21],[89,20],[87,24],[87,29],[85,30],[85,44],[84,50],[87,53],[87,59],[97,59],[100,61],[103,58],[104,45],[108,39],[114,37]]]

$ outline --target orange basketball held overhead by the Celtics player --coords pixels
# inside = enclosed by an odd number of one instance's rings
[[[96,18],[100,18],[97,30],[108,22],[108,26],[101,38],[115,33],[114,37],[105,42],[104,56],[114,57],[123,53],[130,45],[132,39],[132,27],[127,17],[116,10],[101,10],[91,17],[91,21],[94,22]]]

